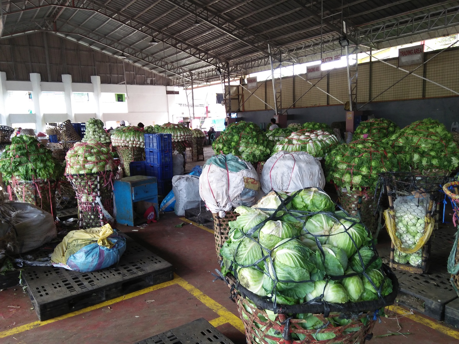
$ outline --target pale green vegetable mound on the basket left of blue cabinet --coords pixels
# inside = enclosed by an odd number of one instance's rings
[[[91,140],[90,142],[76,142],[66,155],[67,174],[90,174],[113,169],[113,158],[110,149]]]

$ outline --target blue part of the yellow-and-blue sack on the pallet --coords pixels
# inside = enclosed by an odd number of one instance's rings
[[[100,246],[97,242],[89,244],[68,257],[67,266],[80,272],[91,272],[118,264],[126,250],[126,239],[113,233],[107,238],[114,243],[111,249]]]

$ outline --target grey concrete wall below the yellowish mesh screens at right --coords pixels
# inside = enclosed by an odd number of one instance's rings
[[[459,121],[459,97],[381,101],[369,103],[362,110],[377,118],[390,119],[401,128],[411,122],[431,117],[442,122],[449,129],[452,122]],[[273,115],[273,110],[238,112],[238,117],[257,124],[269,122]],[[290,109],[288,115],[287,123],[324,122],[331,124],[346,120],[343,105]]]

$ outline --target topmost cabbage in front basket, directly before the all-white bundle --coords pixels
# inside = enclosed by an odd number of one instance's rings
[[[292,200],[292,205],[302,211],[334,211],[330,196],[317,188],[302,189]]]

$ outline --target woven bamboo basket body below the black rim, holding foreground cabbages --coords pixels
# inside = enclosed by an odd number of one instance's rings
[[[239,293],[235,294],[235,302],[246,330],[248,344],[363,344],[366,339],[372,337],[372,330],[376,323],[373,320],[374,312],[362,312],[351,318],[352,321],[346,326],[336,327],[333,327],[323,314],[314,314],[315,317],[328,325],[319,330],[306,330],[301,327],[304,320],[295,319],[295,317],[285,314],[276,314],[274,321],[271,320],[273,315],[268,315],[264,310],[257,309]],[[330,316],[340,316],[340,313],[330,314]],[[362,322],[364,319],[366,321]],[[333,333],[335,337],[330,340],[316,340],[313,335],[315,336],[317,333]]]

